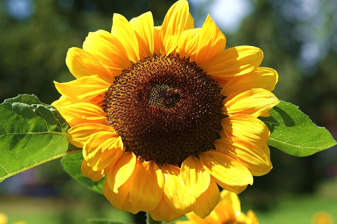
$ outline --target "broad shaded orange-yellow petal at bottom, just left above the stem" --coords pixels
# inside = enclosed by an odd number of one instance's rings
[[[142,211],[151,211],[158,205],[163,188],[164,177],[156,162],[144,162],[132,175],[131,204]]]

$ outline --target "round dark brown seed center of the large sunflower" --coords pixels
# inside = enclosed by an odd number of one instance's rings
[[[158,164],[181,164],[219,138],[220,91],[195,62],[155,55],[116,77],[103,109],[126,151]]]

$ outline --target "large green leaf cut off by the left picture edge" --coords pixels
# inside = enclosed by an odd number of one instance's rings
[[[41,163],[80,152],[66,140],[69,125],[34,95],[0,104],[0,182]]]

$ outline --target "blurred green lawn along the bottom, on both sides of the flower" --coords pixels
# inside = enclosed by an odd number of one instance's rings
[[[337,184],[337,181],[336,181]],[[336,188],[335,188],[336,189]],[[118,211],[108,201],[101,203],[101,214],[104,217],[96,217],[91,205],[86,202],[68,203],[65,199],[35,198],[35,197],[6,197],[1,198],[0,212],[9,216],[9,222],[24,220],[28,224],[61,224],[62,216],[71,216],[67,220],[73,220],[71,224],[87,223],[90,218],[107,218],[125,222],[132,222],[127,212]],[[247,212],[244,205],[242,211]],[[67,210],[65,213],[64,210]],[[292,195],[275,204],[269,212],[254,211],[260,224],[309,224],[316,212],[329,213],[333,220],[337,221],[337,198],[321,197],[318,194]],[[186,220],[185,217],[179,220]],[[173,223],[173,222],[172,222]]]

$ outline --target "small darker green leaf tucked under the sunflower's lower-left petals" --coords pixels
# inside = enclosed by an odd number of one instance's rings
[[[64,171],[66,171],[70,177],[75,179],[81,185],[90,190],[103,194],[103,185],[105,181],[105,177],[103,177],[100,181],[94,182],[88,177],[83,177],[81,172],[81,164],[83,161],[82,153],[76,153],[69,156],[65,156],[62,158],[61,163]]]

